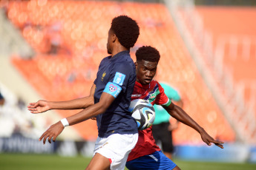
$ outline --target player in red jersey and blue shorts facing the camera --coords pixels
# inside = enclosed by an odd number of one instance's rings
[[[154,105],[154,103],[162,105],[173,118],[176,118],[199,132],[203,142],[207,145],[210,146],[211,143],[214,143],[216,146],[223,148],[223,142],[214,140],[201,126],[190,118],[183,109],[174,105],[165,95],[163,87],[157,81],[153,80],[157,72],[160,53],[154,47],[143,46],[137,50],[136,58],[137,81],[134,86],[134,92],[131,95],[131,101],[140,98],[149,101],[152,105]],[[128,156],[126,167],[130,170],[180,169],[175,163],[168,159],[156,145],[152,135],[152,127],[139,131],[139,140]]]

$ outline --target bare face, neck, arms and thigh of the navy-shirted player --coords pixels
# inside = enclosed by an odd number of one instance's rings
[[[108,31],[108,43],[107,50],[111,56],[116,55],[119,52],[129,50],[119,43],[119,40],[113,30]],[[90,118],[96,117],[104,113],[111,103],[114,101],[114,97],[107,92],[102,92],[99,99],[99,103],[93,102],[93,94],[95,91],[95,84],[91,87],[91,94],[85,98],[79,98],[72,101],[62,101],[62,102],[50,102],[50,101],[38,101],[36,103],[30,103],[27,108],[31,113],[45,112],[50,109],[83,109],[81,112],[76,113],[67,118],[69,125],[74,125],[76,123],[81,123],[82,121],[88,120]],[[48,138],[48,142],[51,143],[56,140],[56,137],[63,131],[65,127],[62,125],[61,121],[50,126],[49,129],[39,138],[39,141],[45,141]],[[111,163],[107,157],[102,156],[102,154],[96,153],[91,159],[89,165],[86,169],[110,169]]]

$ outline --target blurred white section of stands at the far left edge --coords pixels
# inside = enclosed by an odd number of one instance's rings
[[[42,129],[49,126],[45,120],[32,119],[22,97],[0,84],[0,137],[19,134],[34,138],[41,135]]]

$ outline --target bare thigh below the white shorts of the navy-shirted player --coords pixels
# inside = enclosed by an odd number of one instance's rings
[[[91,159],[86,170],[108,170],[111,167],[111,162],[107,157],[102,156],[102,154],[96,153]]]

